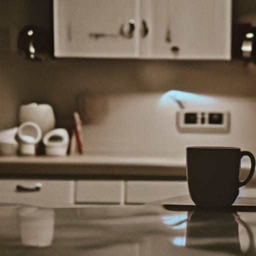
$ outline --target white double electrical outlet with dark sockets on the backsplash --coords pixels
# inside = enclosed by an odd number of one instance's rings
[[[230,129],[228,111],[180,110],[176,114],[180,132],[227,133]]]

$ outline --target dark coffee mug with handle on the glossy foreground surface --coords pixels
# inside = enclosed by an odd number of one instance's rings
[[[248,176],[239,180],[240,160],[251,161]],[[230,206],[239,187],[248,183],[255,169],[255,158],[238,147],[189,146],[186,148],[186,175],[192,201],[198,206]]]

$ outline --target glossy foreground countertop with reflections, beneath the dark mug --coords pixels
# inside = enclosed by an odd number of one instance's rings
[[[255,255],[256,198],[228,208],[0,205],[0,255]],[[178,207],[179,206],[179,207]]]

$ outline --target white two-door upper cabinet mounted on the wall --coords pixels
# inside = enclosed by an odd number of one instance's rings
[[[230,59],[231,0],[53,0],[56,57]]]

